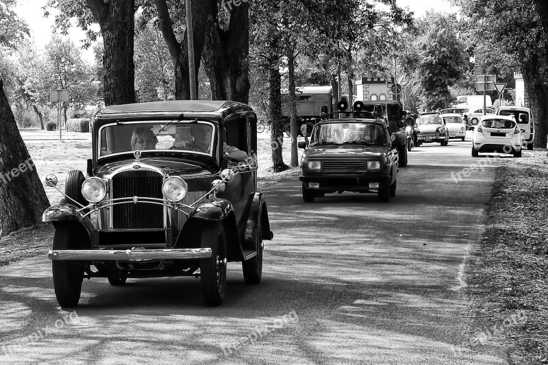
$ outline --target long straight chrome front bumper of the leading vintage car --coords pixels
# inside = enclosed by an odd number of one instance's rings
[[[184,260],[207,259],[211,249],[49,250],[49,260]]]

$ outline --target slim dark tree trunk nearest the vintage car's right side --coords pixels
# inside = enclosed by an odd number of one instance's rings
[[[273,163],[272,170],[275,173],[279,173],[289,168],[289,166],[284,164],[284,156],[282,155],[284,120],[282,118],[282,75],[279,74],[279,36],[274,35],[272,37],[269,53],[269,110],[272,118],[270,135]]]

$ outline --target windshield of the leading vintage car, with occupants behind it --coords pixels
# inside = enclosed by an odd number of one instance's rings
[[[192,151],[212,155],[214,127],[209,122],[118,122],[99,129],[99,157],[132,151]]]

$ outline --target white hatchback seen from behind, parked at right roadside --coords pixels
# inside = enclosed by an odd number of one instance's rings
[[[477,157],[479,152],[498,152],[521,157],[521,133],[522,130],[510,116],[484,115],[472,134],[472,156]]]

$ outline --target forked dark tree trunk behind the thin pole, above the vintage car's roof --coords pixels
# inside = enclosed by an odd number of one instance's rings
[[[192,30],[194,39],[194,64],[196,67],[195,76],[198,78],[200,69],[200,60],[203,53],[204,41],[208,27],[208,14],[211,9],[212,0],[192,1]],[[175,75],[175,99],[190,99],[190,71],[188,71],[188,40],[185,36],[182,42],[177,40],[173,32],[173,22],[169,15],[169,9],[166,0],[155,0],[156,10],[158,10],[158,21],[162,36],[169,49],[171,60],[173,62],[173,73]],[[197,86],[198,88],[198,86]],[[196,90],[198,91],[198,90]]]

